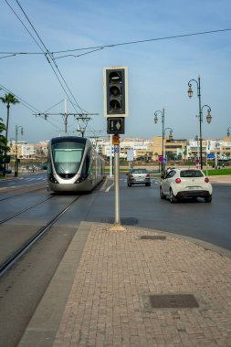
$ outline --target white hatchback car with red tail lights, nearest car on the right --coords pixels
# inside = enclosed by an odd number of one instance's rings
[[[160,186],[161,199],[169,197],[170,202],[190,197],[205,198],[205,203],[211,203],[213,188],[208,177],[199,169],[172,169],[162,179]]]

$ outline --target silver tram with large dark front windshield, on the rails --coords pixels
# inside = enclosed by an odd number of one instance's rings
[[[92,142],[78,136],[49,141],[47,155],[48,190],[90,192],[103,179],[104,160]]]

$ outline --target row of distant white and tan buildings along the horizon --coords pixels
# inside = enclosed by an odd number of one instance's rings
[[[101,156],[112,156],[113,146],[110,145],[110,136],[108,138],[92,138],[96,151]],[[16,141],[8,143],[10,154],[16,156]],[[26,141],[17,142],[17,157],[23,159],[38,159],[47,157],[48,141],[38,143],[28,143]],[[139,138],[121,139],[120,158],[127,160],[128,152],[134,160],[158,161],[159,156],[163,154],[163,137],[154,136],[152,140]],[[209,139],[202,141],[203,158],[207,153],[214,153],[217,159],[231,159],[231,139],[226,137],[221,140]],[[165,137],[164,154],[167,160],[194,160],[200,156],[200,142],[198,140],[172,139]]]

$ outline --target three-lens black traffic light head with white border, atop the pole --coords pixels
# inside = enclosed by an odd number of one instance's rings
[[[128,117],[127,67],[103,68],[104,116]]]

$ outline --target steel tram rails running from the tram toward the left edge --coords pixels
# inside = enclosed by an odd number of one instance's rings
[[[45,199],[43,200],[42,202],[39,202],[37,203],[36,205],[40,205],[42,204],[43,202],[49,200],[50,198],[52,198],[54,196],[51,196],[49,197],[48,199]],[[52,226],[55,225],[55,223],[58,221],[58,219],[63,216],[67,211],[68,209],[74,205],[74,203],[79,200],[79,197],[80,196],[77,196],[74,200],[72,200],[68,205],[66,205],[56,216],[54,216],[51,220],[49,220],[47,222],[47,224],[45,226],[42,226],[40,227],[33,235],[32,237],[29,237],[20,247],[18,247],[16,249],[16,251],[14,252],[13,255],[11,255],[10,257],[6,258],[5,261],[0,264],[0,278],[5,274],[6,271],[8,271],[10,268],[12,268],[16,261],[20,258],[22,258],[26,251],[34,246],[34,244],[40,239],[40,237],[42,237]],[[11,217],[8,217],[8,218],[5,218],[7,220],[9,219],[13,219],[15,216],[18,216],[19,214],[22,214],[23,212],[26,212],[26,210],[28,209],[31,209],[33,208],[34,206],[36,205],[33,205],[33,206],[30,206],[28,208],[26,208],[24,211],[21,211],[20,213],[14,215],[14,216],[11,216]],[[3,220],[0,222],[0,224],[4,224],[6,220]]]

